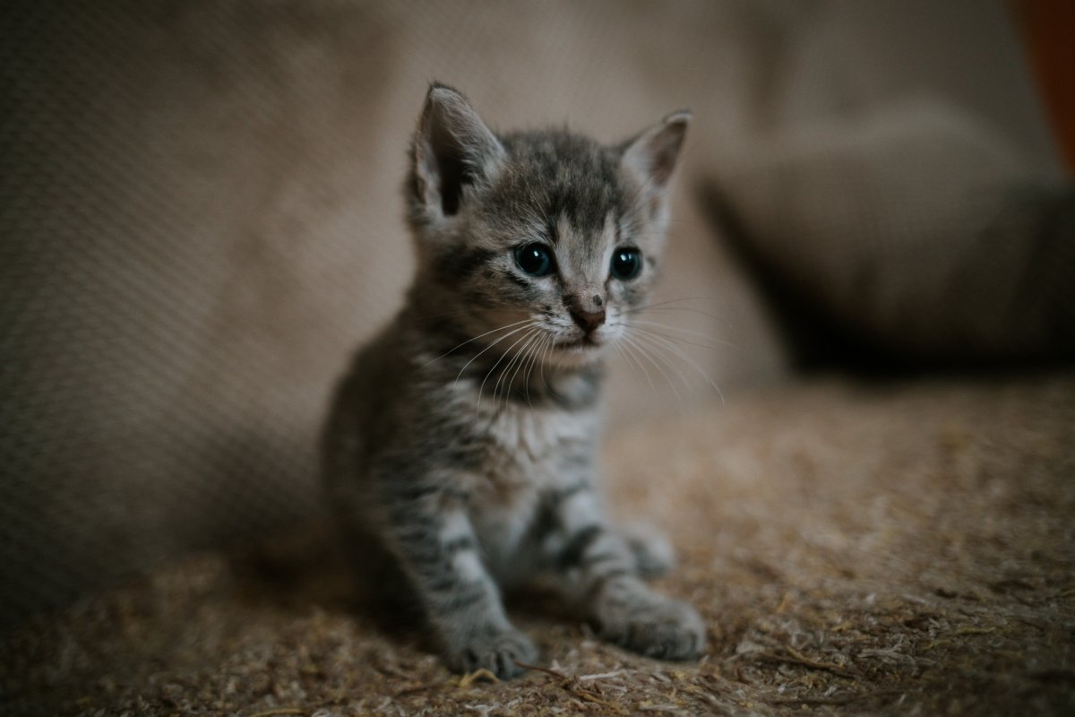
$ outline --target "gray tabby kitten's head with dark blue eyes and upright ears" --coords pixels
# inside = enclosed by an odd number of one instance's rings
[[[649,291],[690,114],[622,144],[498,135],[434,84],[412,146],[415,292],[461,334],[553,364],[599,358]]]

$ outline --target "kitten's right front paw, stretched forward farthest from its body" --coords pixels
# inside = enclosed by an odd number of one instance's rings
[[[705,626],[687,603],[647,591],[599,600],[593,621],[608,642],[663,660],[692,660],[705,650]]]

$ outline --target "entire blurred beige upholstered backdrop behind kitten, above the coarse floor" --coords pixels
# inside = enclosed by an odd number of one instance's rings
[[[610,430],[720,400],[708,378],[732,403],[805,370],[1073,355],[1071,2],[14,0],[0,23],[0,627],[318,515],[329,392],[410,282],[434,78],[503,129],[613,142],[694,112],[650,314],[687,359],[654,386],[618,362]]]

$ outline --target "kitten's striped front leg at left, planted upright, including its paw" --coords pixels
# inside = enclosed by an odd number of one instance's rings
[[[413,583],[442,656],[456,672],[485,669],[507,678],[538,650],[507,620],[496,584],[461,506],[400,504],[392,511],[393,553]]]

